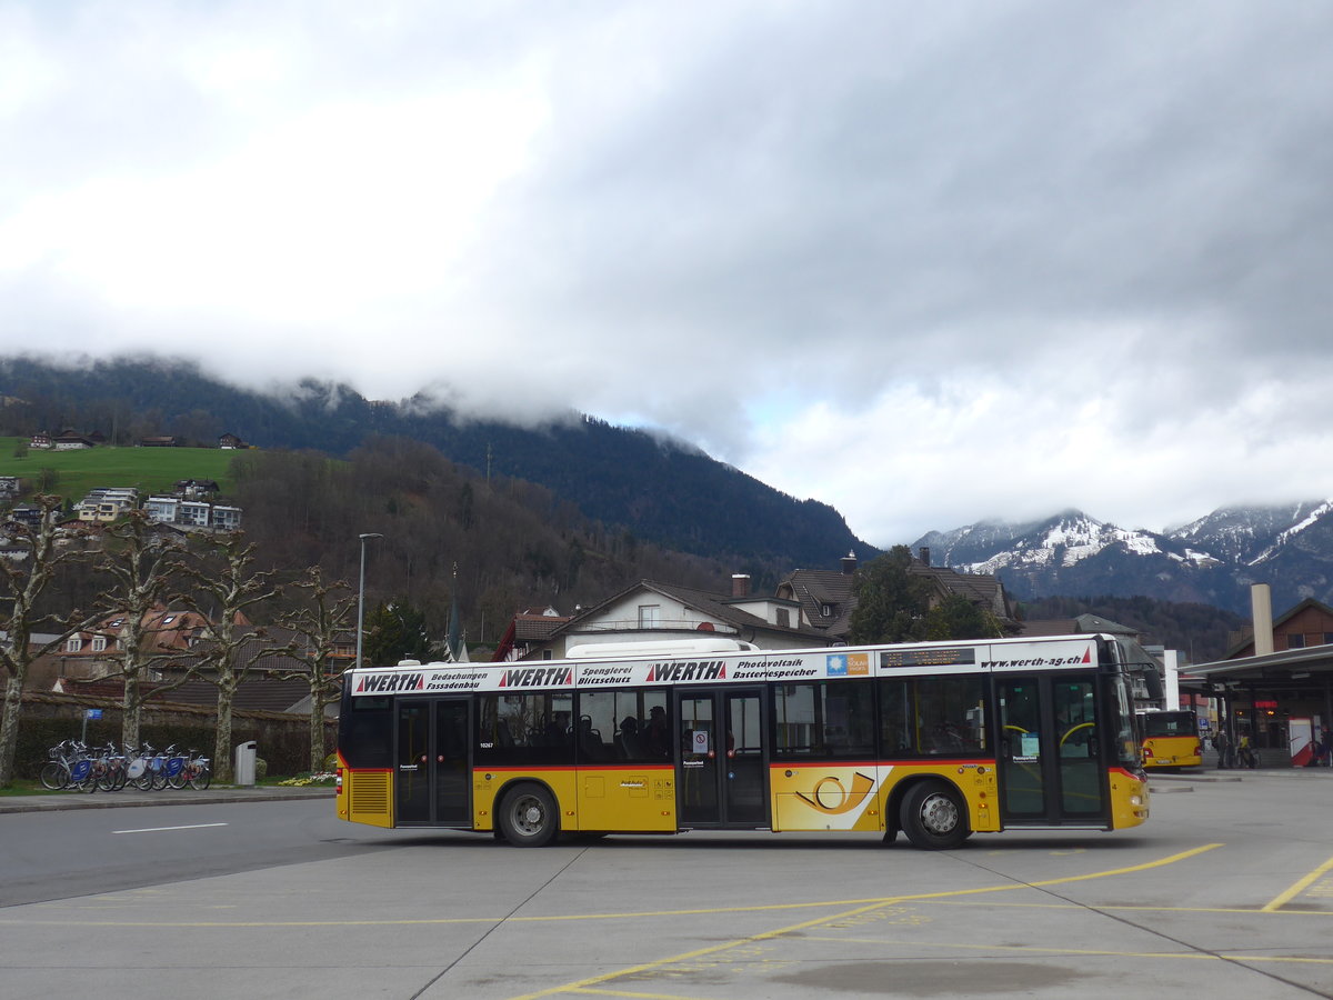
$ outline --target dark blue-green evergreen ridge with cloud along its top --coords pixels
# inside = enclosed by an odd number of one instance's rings
[[[682,552],[788,568],[833,567],[849,549],[878,553],[826,504],[797,500],[678,441],[575,413],[536,429],[469,421],[424,397],[372,403],[311,380],[261,393],[157,359],[76,369],[0,359],[0,433],[71,427],[120,443],[171,433],[209,444],[231,432],[261,448],[339,457],[371,435],[408,437],[483,476],[544,485],[588,519]]]

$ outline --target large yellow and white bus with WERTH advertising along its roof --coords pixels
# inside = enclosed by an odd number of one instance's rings
[[[1113,636],[740,645],[349,671],[337,815],[524,847],[756,829],[926,849],[1148,819],[1134,653]]]

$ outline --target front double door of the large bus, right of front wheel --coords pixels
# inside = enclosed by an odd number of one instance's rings
[[[1109,820],[1093,673],[996,679],[1006,825]]]

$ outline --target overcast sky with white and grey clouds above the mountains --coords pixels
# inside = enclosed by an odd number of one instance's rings
[[[4,351],[575,408],[890,545],[1333,496],[1330,317],[1333,4],[0,0]]]

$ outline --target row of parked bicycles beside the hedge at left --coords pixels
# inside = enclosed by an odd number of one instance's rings
[[[144,744],[135,749],[115,744],[85,747],[79,740],[63,740],[52,747],[41,768],[45,788],[77,788],[81,792],[115,792],[131,785],[141,791],[157,788],[208,788],[213,780],[208,757],[199,751],[164,751]]]

